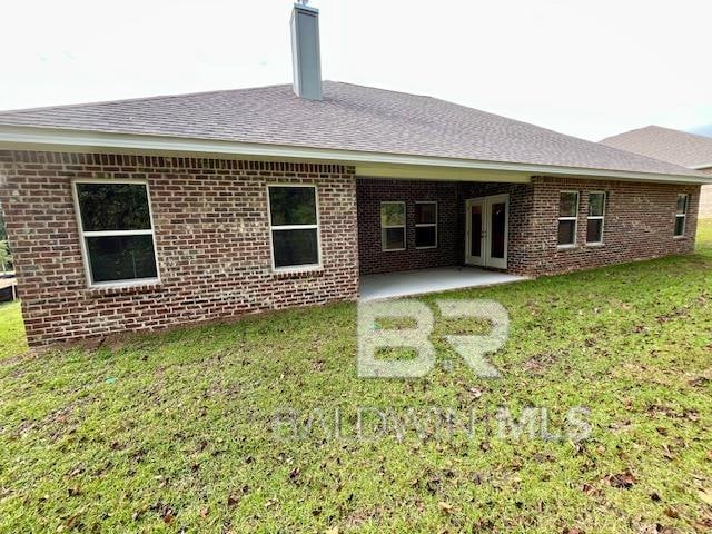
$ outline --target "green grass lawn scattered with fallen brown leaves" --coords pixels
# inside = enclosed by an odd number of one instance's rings
[[[482,325],[441,319],[427,377],[359,379],[349,304],[39,357],[20,354],[19,307],[0,307],[0,531],[712,528],[712,225],[694,256],[447,297],[508,309],[502,378],[442,339]],[[547,408],[551,432],[585,406],[592,434],[500,436],[501,406]],[[285,408],[297,435],[275,432]],[[373,408],[472,412],[475,433],[398,438],[388,417],[382,436]],[[342,436],[316,416],[336,411]]]

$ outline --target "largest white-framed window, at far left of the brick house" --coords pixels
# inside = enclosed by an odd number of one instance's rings
[[[145,182],[76,181],[75,199],[90,285],[158,280]]]

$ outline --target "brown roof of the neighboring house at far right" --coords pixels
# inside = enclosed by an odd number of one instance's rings
[[[712,137],[647,126],[609,137],[601,142],[691,169],[712,167]]]

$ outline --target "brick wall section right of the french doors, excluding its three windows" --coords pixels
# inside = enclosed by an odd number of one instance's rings
[[[700,186],[534,177],[530,236],[516,269],[548,275],[694,250]],[[580,191],[576,246],[557,247],[558,195]],[[606,191],[604,244],[586,245],[589,191]],[[684,238],[674,238],[678,194],[691,195]]]

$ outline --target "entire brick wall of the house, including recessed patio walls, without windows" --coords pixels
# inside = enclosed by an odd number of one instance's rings
[[[72,178],[148,180],[159,285],[87,288]],[[288,181],[318,186],[322,270],[270,269],[266,185]],[[686,254],[694,248],[700,198],[699,186],[551,177],[527,185],[356,180],[353,167],[339,165],[9,151],[0,151],[0,186],[33,346],[352,300],[358,294],[359,255],[362,273],[462,263],[464,200],[502,192],[511,199],[514,273],[554,274]],[[562,189],[581,192],[577,245],[571,249],[556,246]],[[609,194],[603,246],[585,244],[591,190]],[[673,238],[679,192],[692,196],[682,239]],[[406,201],[405,251],[380,251],[382,200]],[[416,200],[438,202],[436,249],[415,249]]]

